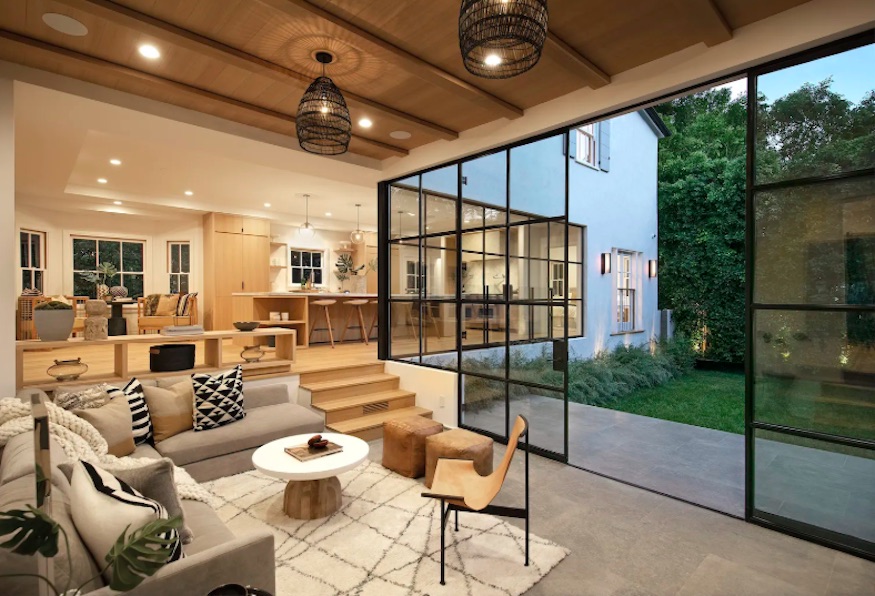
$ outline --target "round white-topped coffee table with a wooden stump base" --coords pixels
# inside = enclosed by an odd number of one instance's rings
[[[337,475],[352,470],[368,457],[370,447],[358,437],[338,433],[322,433],[323,439],[343,447],[340,453],[298,461],[285,452],[297,447],[313,435],[283,437],[262,445],[252,454],[252,463],[259,472],[288,480],[283,497],[283,511],[295,519],[327,517],[340,509],[340,480]]]

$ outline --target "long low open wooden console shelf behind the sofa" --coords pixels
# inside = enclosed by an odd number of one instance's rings
[[[251,343],[256,343],[262,337],[276,338],[276,352],[273,358],[264,358],[259,362],[243,363],[243,378],[265,378],[271,376],[287,375],[291,372],[292,363],[295,361],[295,347],[297,343],[297,331],[294,329],[281,328],[259,328],[254,331],[206,331],[204,333],[193,335],[116,335],[108,339],[84,340],[84,339],[68,339],[66,341],[40,341],[40,340],[22,340],[15,342],[15,386],[17,389],[23,388],[39,388],[44,391],[52,391],[58,385],[69,385],[71,383],[112,383],[128,380],[130,377],[140,379],[155,379],[159,377],[173,377],[180,374],[188,374],[195,372],[215,372],[222,368],[227,368],[232,364],[226,363],[222,359],[222,342],[226,339],[250,339]],[[192,343],[203,342],[203,364],[197,365],[192,369],[153,373],[150,370],[131,370],[129,359],[129,347],[132,345],[158,345],[168,343]],[[112,355],[99,354],[99,348],[104,348],[107,352],[111,349]],[[28,352],[57,352],[59,350],[75,350],[77,348],[88,352],[88,356],[83,358],[83,362],[89,364],[89,358],[94,360],[107,362],[112,361],[112,373],[93,373],[88,372],[79,377],[75,381],[59,382],[48,375],[45,380],[30,381],[25,384],[24,380],[24,357]],[[81,354],[76,354],[81,356]],[[57,357],[57,356],[56,356]],[[62,358],[69,355],[62,356]],[[92,363],[93,364],[93,361]]]

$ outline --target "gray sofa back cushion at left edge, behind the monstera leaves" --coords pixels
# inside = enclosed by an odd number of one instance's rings
[[[33,443],[30,445],[32,448]],[[0,511],[24,509],[27,505],[36,505],[35,486],[36,477],[32,474],[4,484],[0,488]],[[100,568],[79,536],[79,532],[76,531],[70,510],[70,497],[64,491],[52,492],[52,519],[64,528],[70,541],[72,559],[72,567],[70,567],[67,558],[67,545],[61,537],[58,540],[58,554],[54,557],[56,584],[65,586],[69,578],[71,585],[78,586],[96,577],[95,580],[86,584],[83,592],[90,592],[102,587]],[[72,569],[72,575],[70,569]],[[36,557],[14,555],[5,548],[0,549],[0,574],[35,572]],[[3,594],[36,594],[36,583],[33,582],[32,578],[3,578],[0,584],[2,584],[0,592]]]

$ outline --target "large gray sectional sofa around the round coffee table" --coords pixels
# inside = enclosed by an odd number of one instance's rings
[[[163,379],[146,384],[170,386],[184,377]],[[264,443],[283,436],[317,433],[324,428],[321,416],[307,408],[290,403],[286,385],[246,387],[244,385],[246,417],[217,429],[187,431],[170,437],[155,447],[140,445],[133,457],[168,457],[185,468],[196,480],[207,481],[252,469],[252,452]],[[19,396],[29,401],[30,391]],[[35,500],[33,434],[12,438],[0,456],[0,511],[21,509]],[[52,515],[70,537],[72,570],[67,563],[66,547],[54,558],[55,577],[63,585],[72,573],[78,586],[99,571],[73,525],[70,510],[70,483],[57,469],[67,461],[59,444],[52,439]],[[133,595],[168,596],[170,594],[206,594],[213,587],[226,583],[251,585],[275,593],[273,535],[259,532],[235,536],[216,512],[198,501],[183,500],[185,523],[194,539],[185,545],[185,558],[163,567],[147,578]],[[0,574],[33,573],[36,561],[32,557],[13,555],[0,549]],[[36,583],[31,578],[0,579],[0,594],[33,594]],[[109,596],[116,592],[101,580],[85,587],[93,596]]]

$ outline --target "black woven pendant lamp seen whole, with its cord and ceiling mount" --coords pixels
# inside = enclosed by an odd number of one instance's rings
[[[322,64],[322,76],[310,83],[298,104],[295,116],[298,143],[310,153],[340,155],[349,149],[352,137],[349,108],[340,89],[325,76],[325,65],[331,64],[334,56],[316,52],[316,60]]]

